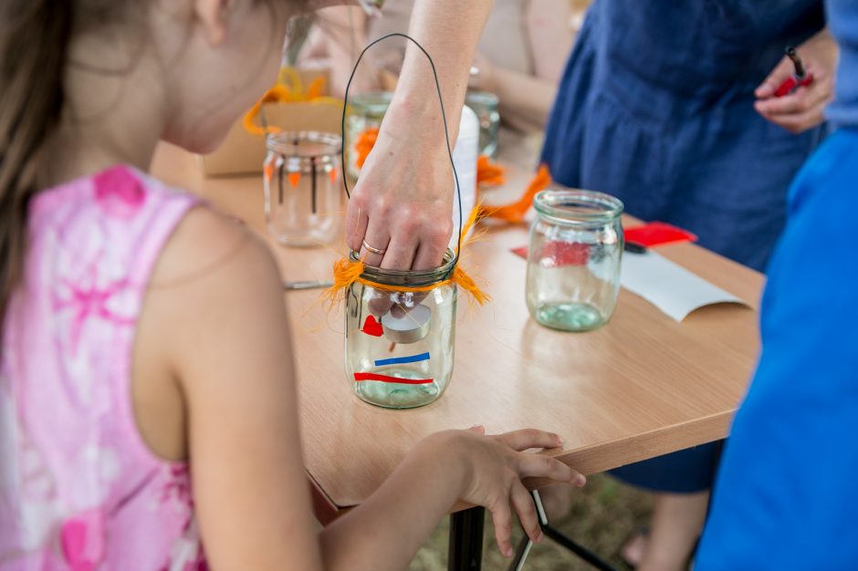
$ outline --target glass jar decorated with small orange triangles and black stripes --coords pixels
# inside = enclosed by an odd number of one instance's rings
[[[271,133],[263,164],[268,231],[280,244],[330,244],[340,230],[339,135]]]

